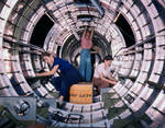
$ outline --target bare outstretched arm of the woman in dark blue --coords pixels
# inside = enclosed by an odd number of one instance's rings
[[[51,71],[42,72],[42,73],[35,73],[36,77],[46,77],[46,75],[54,75],[55,72],[58,70],[59,65],[56,65],[53,67]]]

